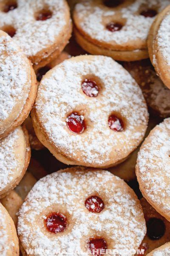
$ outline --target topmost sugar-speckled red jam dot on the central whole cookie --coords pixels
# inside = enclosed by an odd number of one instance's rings
[[[99,87],[95,81],[85,79],[82,82],[82,91],[89,97],[96,97],[99,93]]]

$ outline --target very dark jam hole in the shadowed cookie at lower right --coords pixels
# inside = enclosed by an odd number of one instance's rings
[[[164,221],[162,221],[159,218],[150,218],[147,221],[147,236],[151,240],[158,240],[162,236],[164,236],[165,233],[165,224]]]

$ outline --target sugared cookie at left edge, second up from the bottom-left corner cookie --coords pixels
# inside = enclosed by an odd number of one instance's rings
[[[29,164],[28,132],[19,126],[0,140],[0,198],[20,182]]]

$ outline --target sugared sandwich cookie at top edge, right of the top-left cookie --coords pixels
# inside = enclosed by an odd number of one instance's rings
[[[148,58],[147,35],[169,0],[85,0],[74,9],[74,34],[87,52],[118,61]]]

